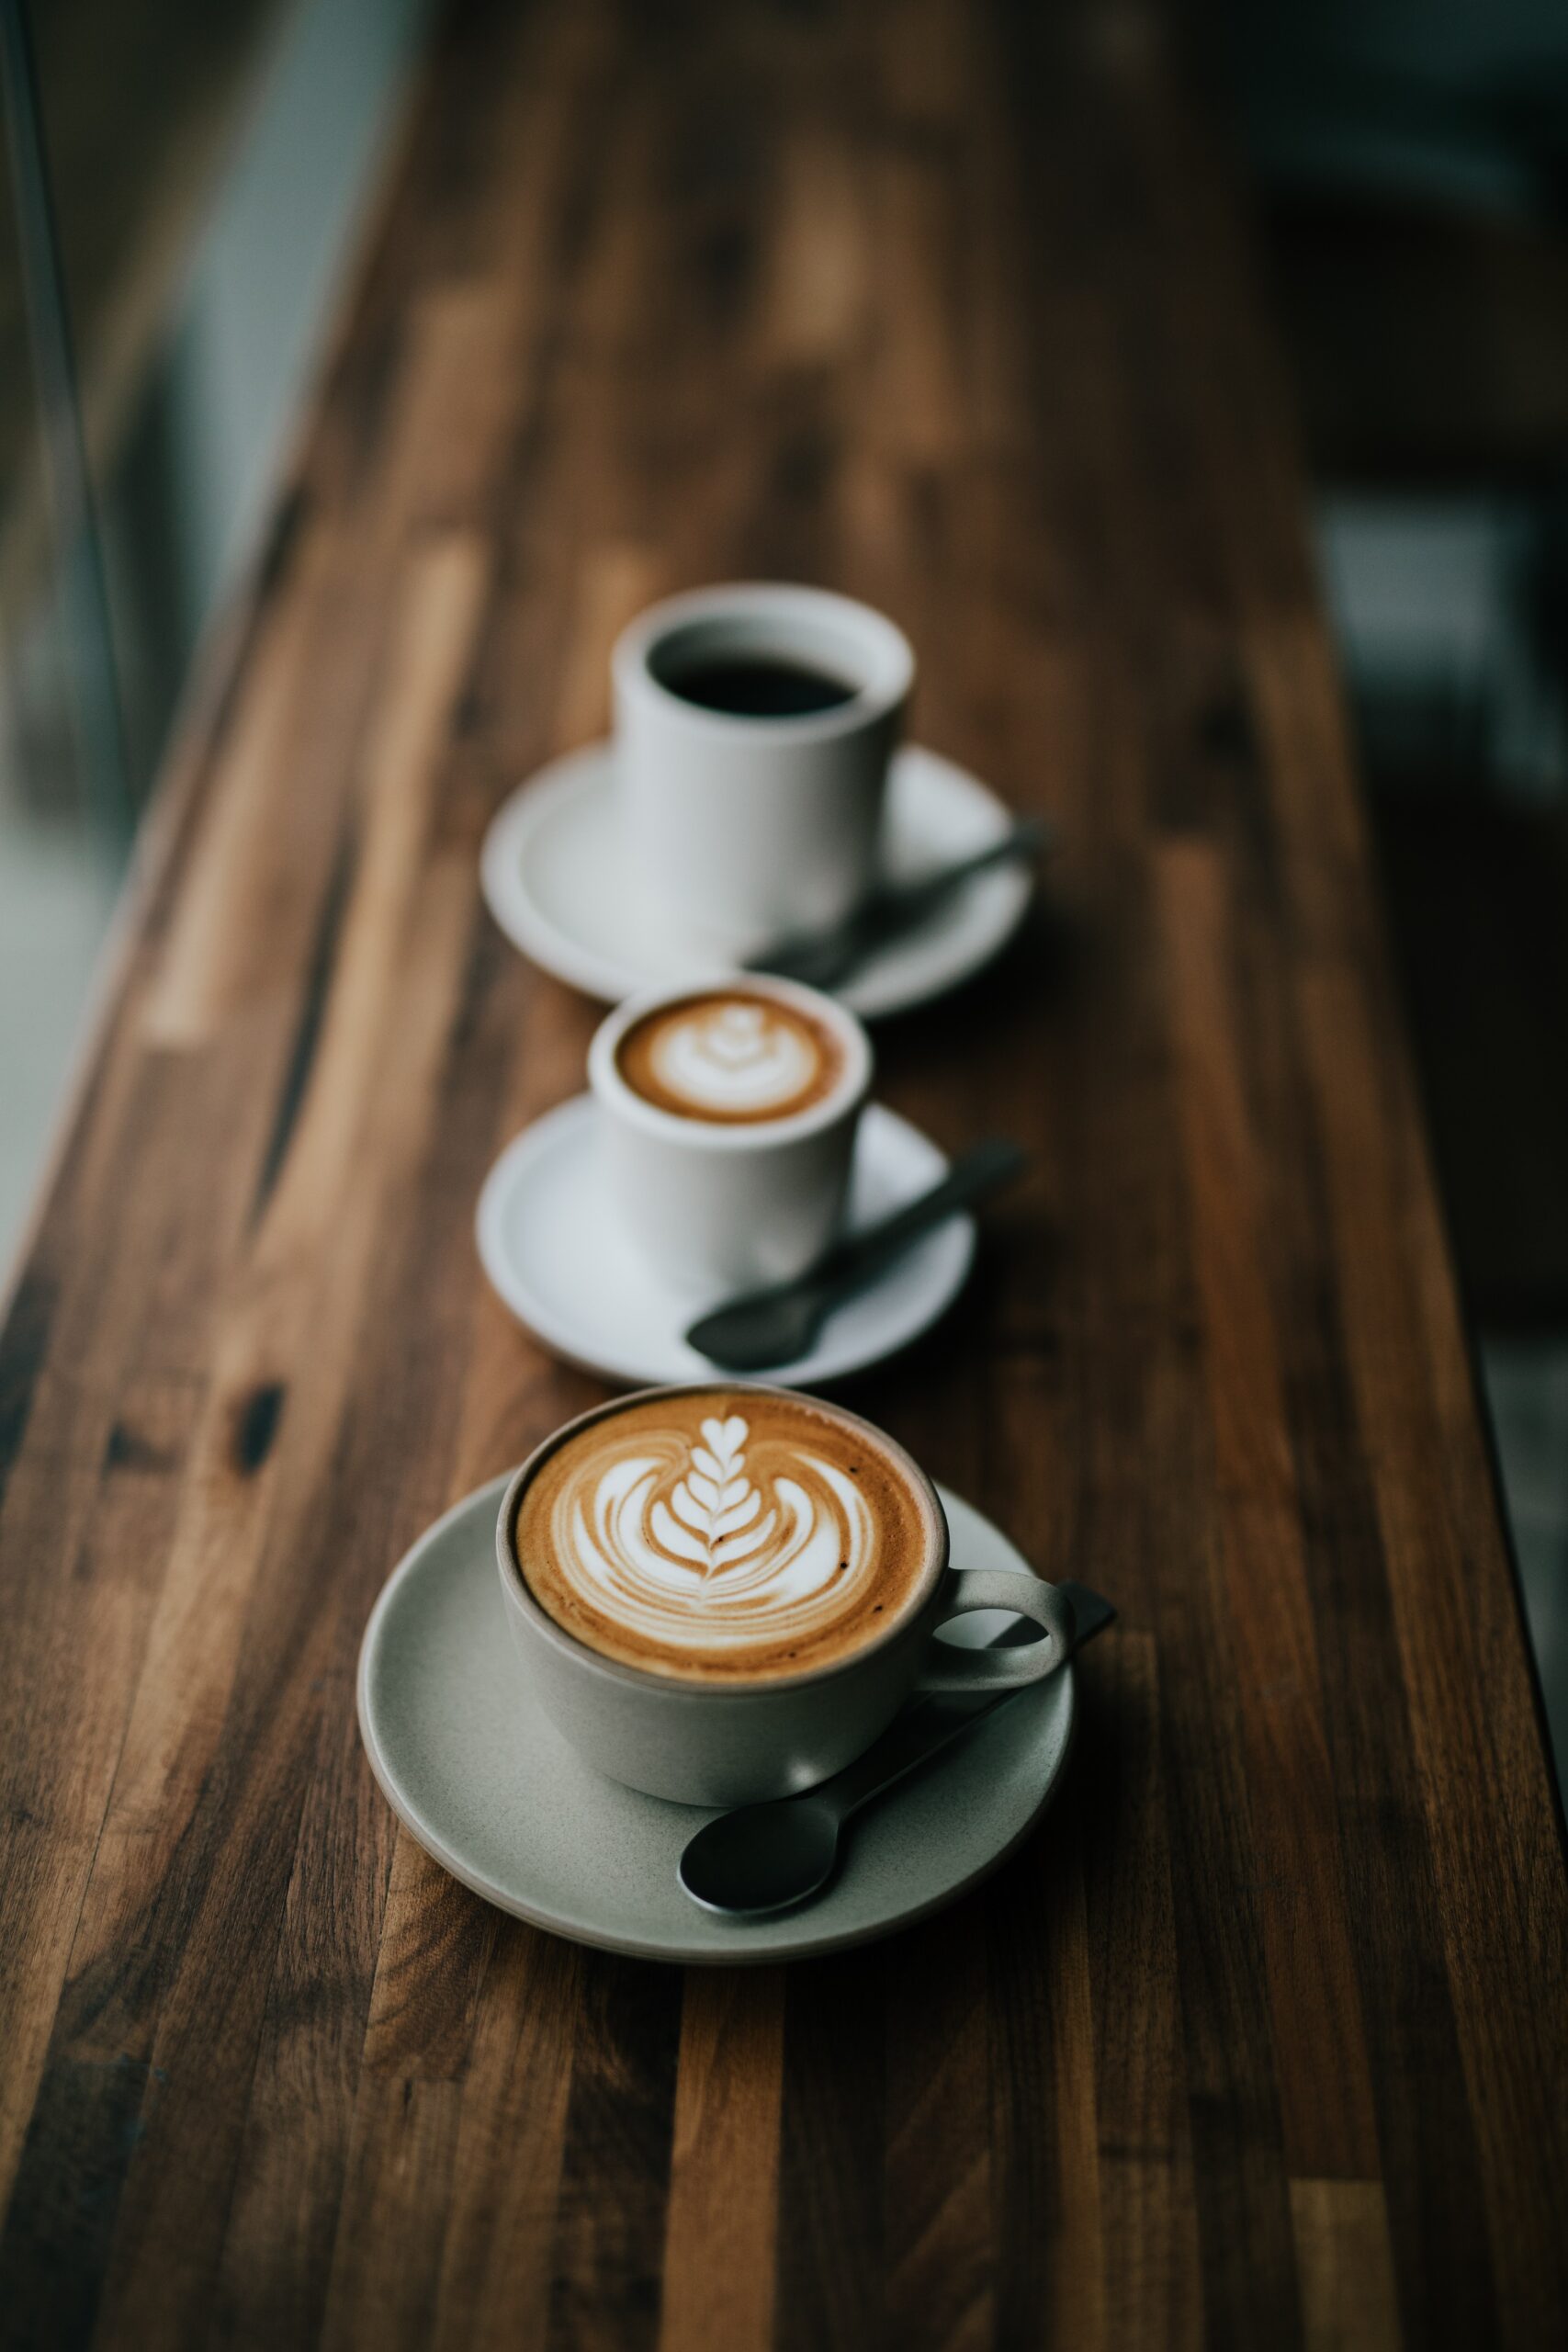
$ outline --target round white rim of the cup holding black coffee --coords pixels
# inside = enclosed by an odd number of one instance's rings
[[[858,687],[846,703],[832,710],[802,710],[795,715],[766,717],[743,710],[710,710],[675,694],[651,668],[651,654],[672,630],[691,621],[708,619],[764,619],[785,623],[799,621],[837,623],[863,644],[872,644],[872,659],[882,675]],[[733,736],[743,743],[825,743],[844,734],[858,734],[870,722],[884,717],[907,701],[914,684],[914,647],[886,614],[858,597],[839,595],[835,588],[797,586],[792,581],[729,581],[715,588],[686,588],[679,595],[661,597],[630,621],[609,656],[616,691],[632,701],[651,703],[656,710],[679,713],[701,734]],[[743,788],[743,786],[741,786]]]

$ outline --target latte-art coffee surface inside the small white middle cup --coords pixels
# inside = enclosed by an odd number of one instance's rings
[[[790,1120],[839,1084],[839,1040],[780,997],[703,990],[632,1021],[616,1047],[632,1094],[682,1120]]]

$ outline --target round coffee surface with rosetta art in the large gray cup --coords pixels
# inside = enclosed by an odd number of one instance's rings
[[[886,1444],[809,1399],[696,1390],[567,1437],[522,1491],[524,1581],[623,1665],[752,1682],[832,1665],[929,1588],[943,1526]]]

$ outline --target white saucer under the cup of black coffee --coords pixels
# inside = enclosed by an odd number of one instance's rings
[[[933,750],[910,746],[893,757],[891,877],[985,849],[1011,823],[994,793]],[[693,950],[625,870],[609,743],[552,760],[510,795],[484,835],[480,875],[512,946],[607,1004],[712,971],[712,955]],[[839,995],[867,1018],[945,995],[1006,946],[1030,889],[1023,863],[976,875],[903,938],[867,955]]]

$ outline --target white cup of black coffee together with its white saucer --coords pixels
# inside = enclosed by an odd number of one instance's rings
[[[1013,811],[900,743],[914,654],[893,621],[820,588],[752,581],[651,607],[611,656],[616,736],[520,786],[484,837],[505,936],[618,1004],[752,960],[992,849]],[[959,985],[1011,938],[1032,875],[973,875],[835,993],[865,1018]]]

